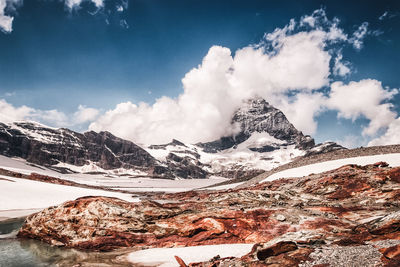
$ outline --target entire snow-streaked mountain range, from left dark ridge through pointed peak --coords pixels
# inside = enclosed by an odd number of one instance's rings
[[[164,178],[254,175],[294,157],[342,149],[315,146],[278,109],[256,98],[232,116],[239,132],[208,143],[140,147],[109,132],[77,133],[34,122],[0,123],[0,154],[64,172],[107,172]]]

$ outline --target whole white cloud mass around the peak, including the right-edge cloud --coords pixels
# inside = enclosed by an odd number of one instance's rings
[[[162,97],[153,105],[120,103],[89,128],[145,144],[172,138],[210,141],[234,133],[232,114],[244,100],[258,96],[281,109],[306,134],[315,133],[315,118],[321,112],[335,110],[339,118],[367,118],[370,123],[363,134],[373,136],[396,118],[387,101],[397,90],[370,79],[334,81],[351,72],[342,48],[361,49],[369,33],[368,23],[351,34],[339,23],[318,9],[235,53],[213,46],[182,79],[183,93],[177,98]]]

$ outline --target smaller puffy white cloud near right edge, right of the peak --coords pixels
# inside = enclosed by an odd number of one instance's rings
[[[363,134],[372,136],[396,118],[397,114],[391,110],[393,105],[385,101],[397,93],[397,89],[385,90],[381,82],[372,79],[353,81],[347,85],[334,82],[327,106],[338,110],[338,116],[345,119],[367,118],[370,123]]]

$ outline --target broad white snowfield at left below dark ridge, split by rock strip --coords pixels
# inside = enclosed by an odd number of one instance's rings
[[[181,192],[206,187],[226,181],[225,178],[168,180],[151,178],[130,178],[110,174],[61,174],[35,166],[23,159],[0,156],[0,168],[23,174],[32,172],[61,178],[80,184],[104,186],[133,192]],[[27,216],[49,206],[61,204],[83,196],[108,196],[126,201],[139,201],[132,194],[105,190],[64,186],[8,176],[0,176],[0,219]]]

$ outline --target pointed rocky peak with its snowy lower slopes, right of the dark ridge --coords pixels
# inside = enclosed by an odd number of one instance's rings
[[[208,143],[183,144],[173,140],[146,150],[162,162],[185,159],[223,177],[255,175],[287,163],[302,155],[344,149],[333,142],[315,145],[286,116],[264,99],[250,99],[232,116],[231,123],[240,131]]]

